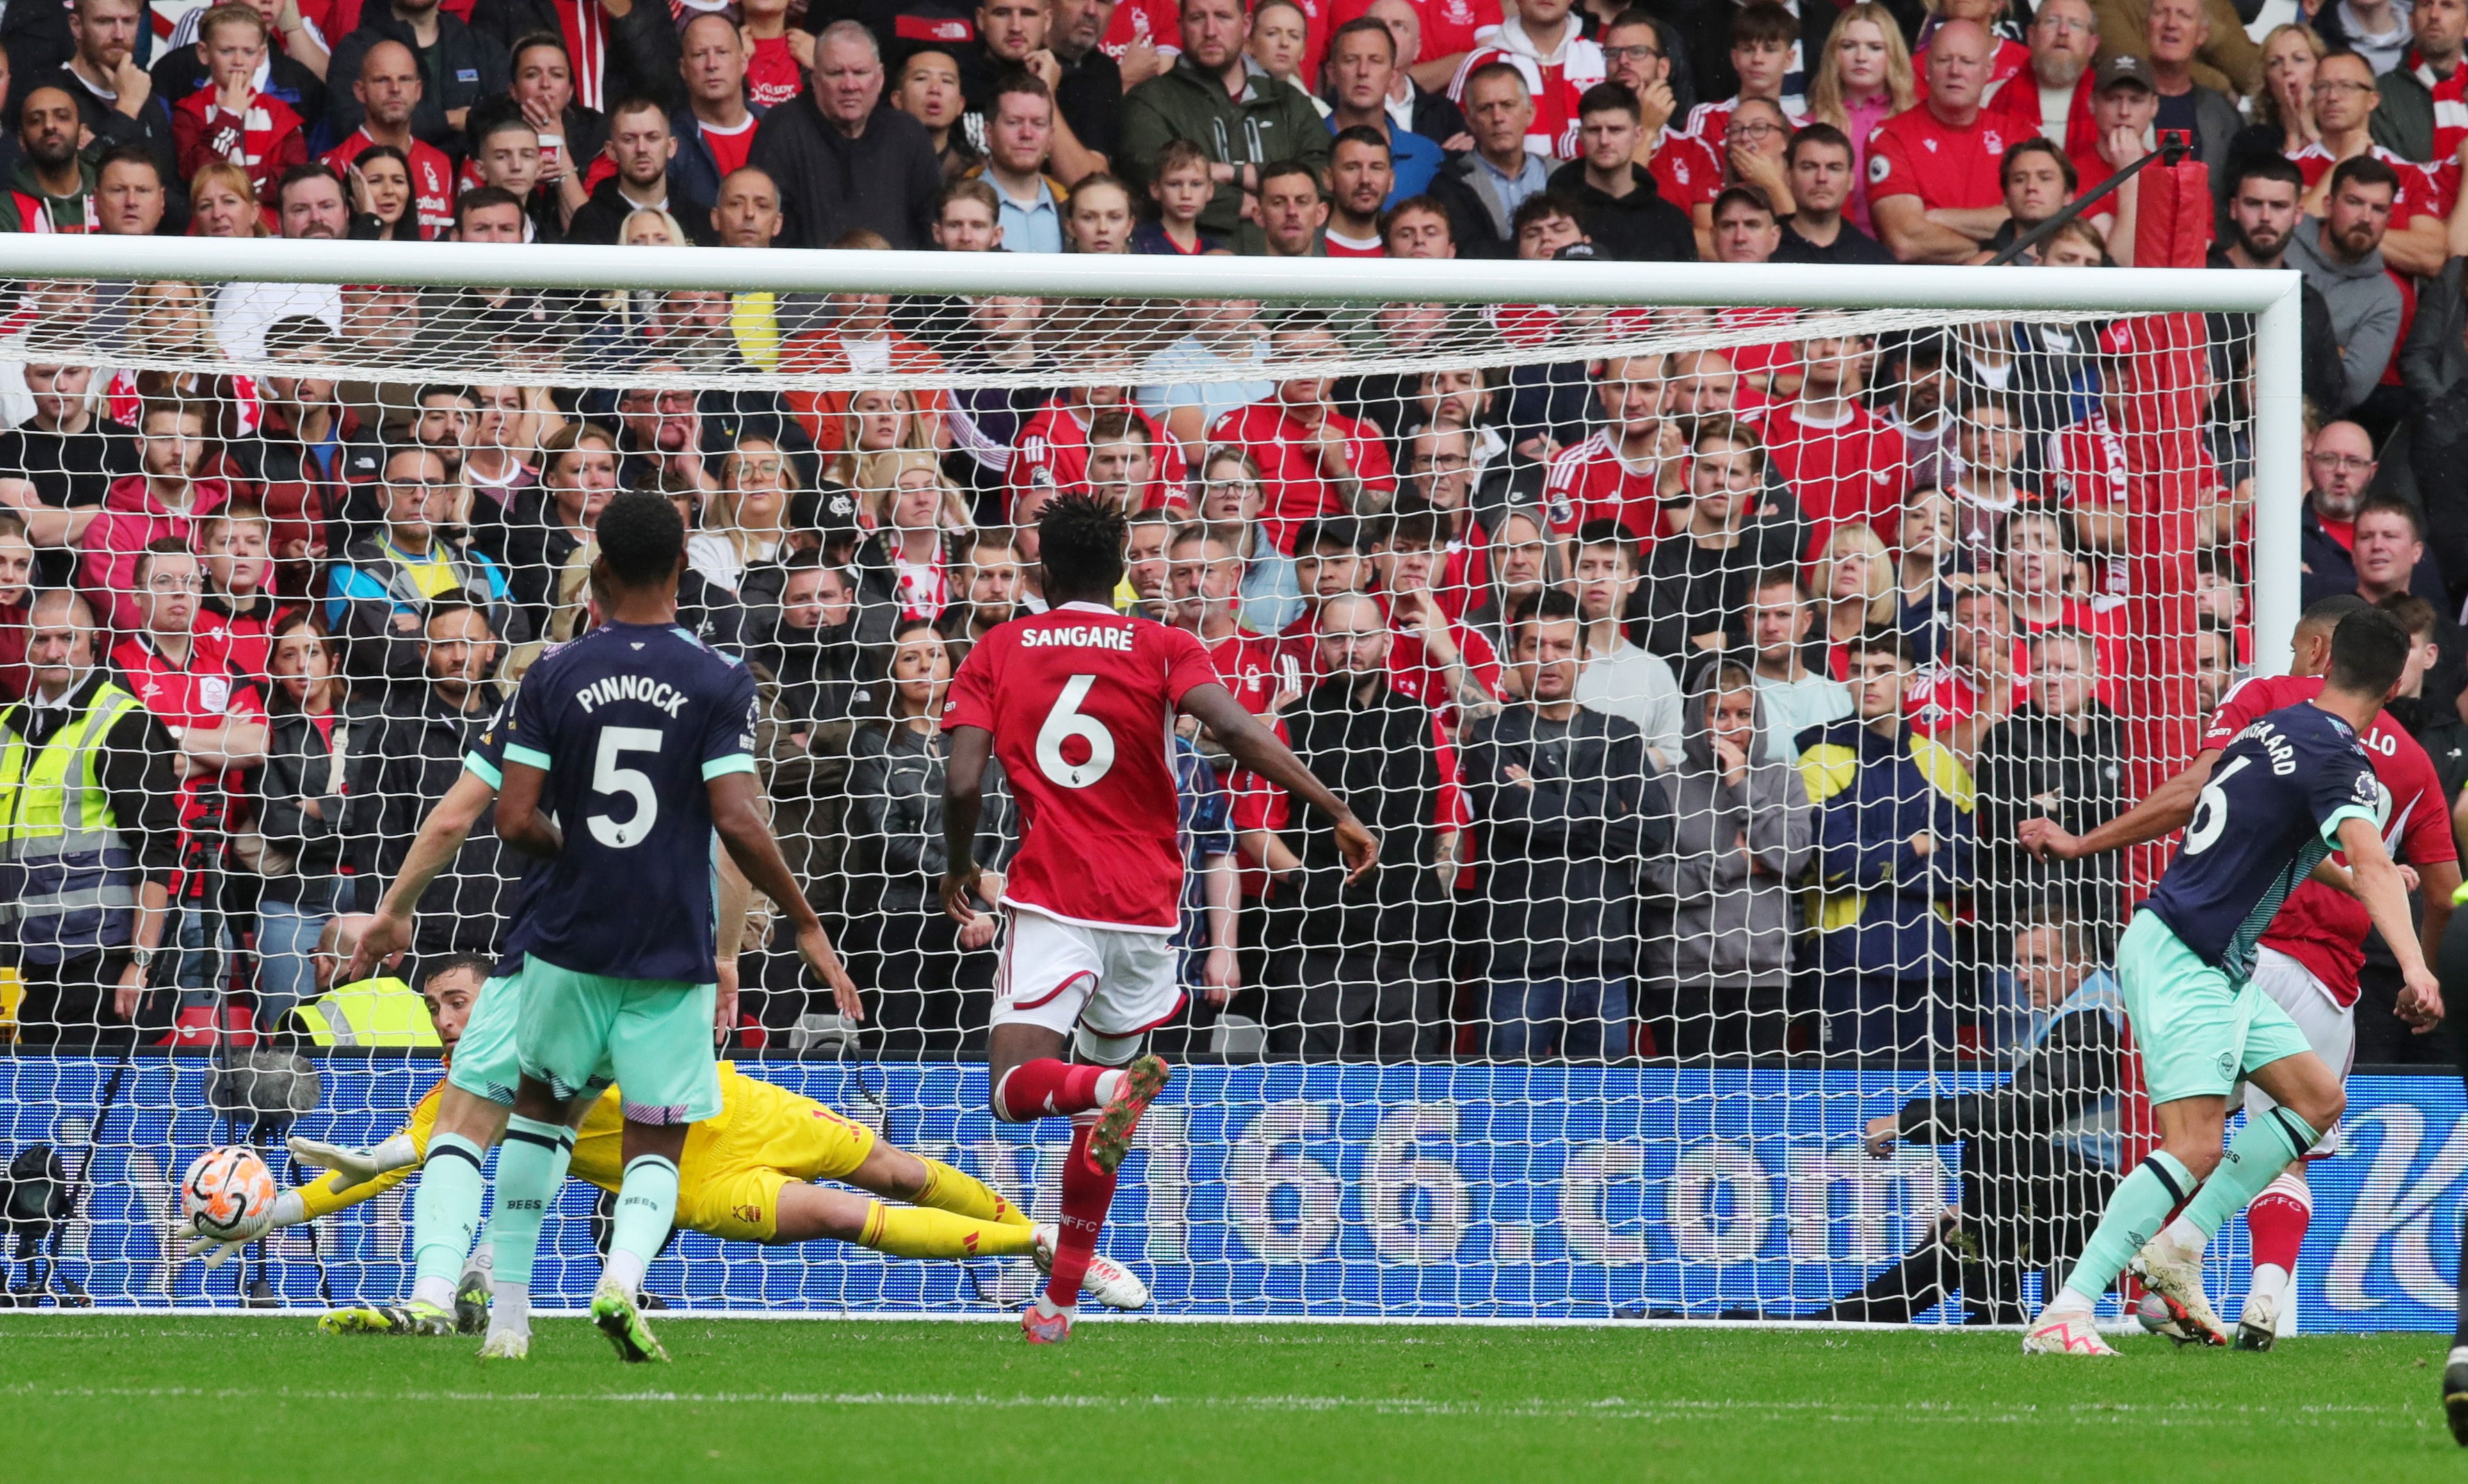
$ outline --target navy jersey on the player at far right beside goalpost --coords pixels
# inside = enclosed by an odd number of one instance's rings
[[[2204,963],[2251,978],[2271,914],[2332,852],[2342,820],[2379,827],[2379,802],[2347,721],[2313,704],[2271,711],[2219,753],[2145,906]]]

